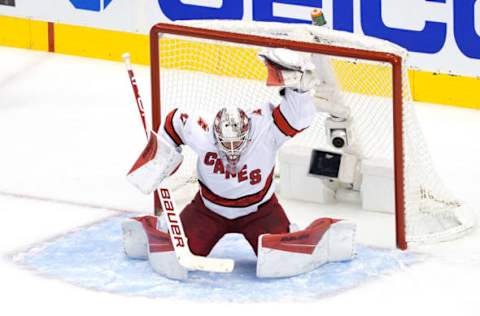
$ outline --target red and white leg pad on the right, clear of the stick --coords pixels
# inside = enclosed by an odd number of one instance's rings
[[[352,222],[320,218],[304,230],[259,237],[257,276],[290,277],[328,262],[351,260],[355,254]]]

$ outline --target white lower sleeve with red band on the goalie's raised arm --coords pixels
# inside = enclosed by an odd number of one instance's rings
[[[285,89],[280,105],[272,110],[273,136],[277,147],[309,127],[315,112],[310,93]]]

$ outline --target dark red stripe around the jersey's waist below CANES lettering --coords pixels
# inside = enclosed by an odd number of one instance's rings
[[[224,197],[221,197],[215,193],[213,193],[205,184],[202,182],[198,181],[200,183],[201,187],[201,192],[202,196],[207,199],[208,201],[220,205],[220,206],[225,206],[225,207],[236,207],[236,208],[243,208],[243,207],[248,207],[253,204],[257,204],[263,200],[265,195],[268,193],[268,190],[272,186],[273,182],[273,169],[272,172],[270,172],[270,175],[267,178],[267,181],[265,183],[265,186],[263,187],[262,190],[258,191],[257,193],[252,193],[249,195],[245,195],[239,198],[235,199],[227,199]]]

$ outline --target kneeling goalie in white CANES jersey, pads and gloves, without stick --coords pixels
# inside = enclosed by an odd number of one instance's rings
[[[280,86],[281,102],[246,112],[222,107],[212,118],[171,111],[159,134],[151,133],[147,148],[128,180],[143,193],[161,187],[182,162],[181,148],[198,155],[200,189],[181,212],[188,247],[208,256],[228,233],[240,233],[257,255],[258,277],[287,277],[354,256],[354,223],[319,218],[295,229],[275,196],[276,154],[288,139],[308,128],[316,106],[318,82],[310,54],[269,49],[259,54],[268,68],[268,85]],[[251,106],[251,105],[245,105]],[[154,271],[184,279],[162,216],[143,216],[123,223],[124,249],[131,258],[148,259]]]

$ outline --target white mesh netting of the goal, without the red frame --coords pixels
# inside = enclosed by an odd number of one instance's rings
[[[388,42],[314,26],[272,23],[195,22],[195,26],[395,54],[406,52]],[[173,108],[211,117],[223,106],[253,109],[279,101],[278,89],[265,85],[267,70],[257,53],[264,47],[162,34],[159,39],[162,117]],[[329,59],[343,103],[351,110],[355,141],[364,159],[388,161],[393,169],[393,82],[389,63],[344,57]],[[451,195],[434,170],[411,100],[403,67],[403,146],[406,240],[430,242],[456,238],[475,224],[473,212]],[[318,113],[313,125],[287,142],[329,148]],[[170,185],[195,179],[196,157],[185,162]],[[399,210],[397,210],[398,212]],[[402,210],[403,211],[403,210]]]

